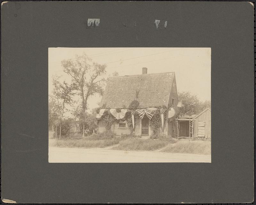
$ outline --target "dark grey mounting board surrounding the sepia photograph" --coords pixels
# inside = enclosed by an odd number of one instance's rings
[[[87,18],[100,18],[100,26],[86,29]],[[124,27],[127,19],[137,26]],[[156,30],[155,19],[167,28]],[[48,47],[211,47],[212,163],[48,163]],[[2,108],[4,199],[253,201],[253,5],[4,3]]]

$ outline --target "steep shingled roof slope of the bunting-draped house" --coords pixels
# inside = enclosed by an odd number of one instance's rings
[[[100,106],[128,107],[136,97],[140,107],[168,106],[174,72],[109,77]]]

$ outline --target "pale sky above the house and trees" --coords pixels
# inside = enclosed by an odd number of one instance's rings
[[[201,101],[211,100],[211,48],[49,48],[49,94],[53,90],[53,75],[71,82],[60,62],[83,53],[92,61],[107,65],[106,77],[115,71],[119,76],[141,74],[142,67],[147,67],[148,73],[174,71],[178,92],[191,92]],[[100,100],[99,95],[90,97],[89,111],[98,107]]]

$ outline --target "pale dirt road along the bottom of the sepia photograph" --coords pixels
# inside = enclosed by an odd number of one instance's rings
[[[141,162],[207,162],[211,155],[166,153],[156,151],[122,151],[109,148],[49,147],[50,163],[141,163]]]

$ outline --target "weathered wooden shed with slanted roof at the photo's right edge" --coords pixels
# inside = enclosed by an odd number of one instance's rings
[[[194,137],[211,138],[211,108],[205,108],[194,117]]]

